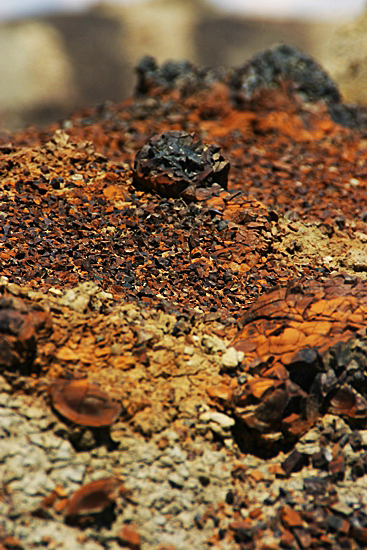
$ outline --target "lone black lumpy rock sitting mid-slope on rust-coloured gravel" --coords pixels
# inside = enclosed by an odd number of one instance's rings
[[[218,145],[195,141],[193,134],[172,131],[153,136],[137,153],[133,181],[137,188],[162,197],[195,199],[195,189],[214,184],[226,189],[229,162]]]

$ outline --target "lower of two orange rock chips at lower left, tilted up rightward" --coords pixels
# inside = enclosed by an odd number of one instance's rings
[[[85,516],[100,514],[115,500],[119,481],[114,477],[99,479],[83,485],[68,499],[65,516]]]

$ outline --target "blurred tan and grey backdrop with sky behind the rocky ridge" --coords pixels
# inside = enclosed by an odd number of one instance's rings
[[[145,54],[238,67],[280,42],[367,105],[365,0],[0,0],[0,130],[125,99]]]

